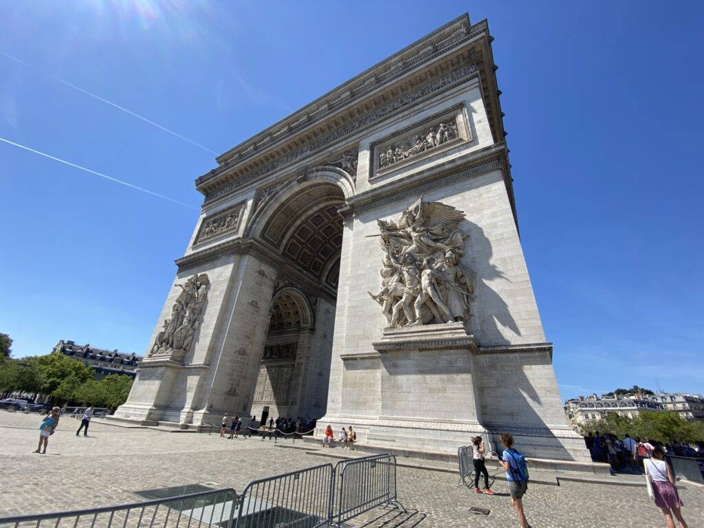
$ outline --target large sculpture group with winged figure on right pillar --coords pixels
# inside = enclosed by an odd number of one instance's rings
[[[382,289],[367,292],[389,327],[467,321],[476,274],[463,269],[462,211],[422,196],[398,220],[378,220],[384,251]]]

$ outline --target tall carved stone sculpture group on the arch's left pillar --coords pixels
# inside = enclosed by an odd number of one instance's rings
[[[206,273],[194,275],[184,284],[176,284],[181,293],[171,309],[171,318],[164,320],[164,327],[156,336],[149,352],[151,356],[176,356],[188,353],[201,321],[203,303],[208,298],[210,281]]]

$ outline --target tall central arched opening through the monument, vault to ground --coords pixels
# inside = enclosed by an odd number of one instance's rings
[[[327,180],[284,189],[256,213],[252,234],[283,265],[272,295],[251,414],[271,418],[325,415],[332,355],[344,192]]]

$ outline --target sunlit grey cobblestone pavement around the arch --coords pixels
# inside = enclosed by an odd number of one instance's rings
[[[335,463],[313,456],[296,441],[220,439],[218,434],[173,433],[94,422],[89,436],[75,436],[79,422],[63,417],[49,439],[46,455],[32,454],[39,439],[39,417],[0,410],[0,517],[75,510],[139,501],[132,492],[206,484],[242,491],[253,479]],[[520,448],[520,446],[518,446]],[[306,448],[310,446],[306,444]],[[320,448],[313,448],[320,449]],[[348,453],[325,449],[326,455]],[[321,452],[322,454],[322,452]],[[359,453],[361,454],[361,453]],[[353,520],[374,527],[516,527],[508,488],[497,480],[497,496],[457,487],[458,476],[398,467],[398,498],[409,513],[377,508]],[[684,517],[704,527],[704,488],[679,485]],[[524,505],[534,528],[661,528],[665,520],[644,486],[586,482],[530,484]],[[471,515],[471,506],[489,508]]]

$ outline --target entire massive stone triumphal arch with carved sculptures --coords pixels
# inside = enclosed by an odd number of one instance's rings
[[[115,419],[354,425],[586,463],[517,228],[492,37],[464,15],[217,158]]]

